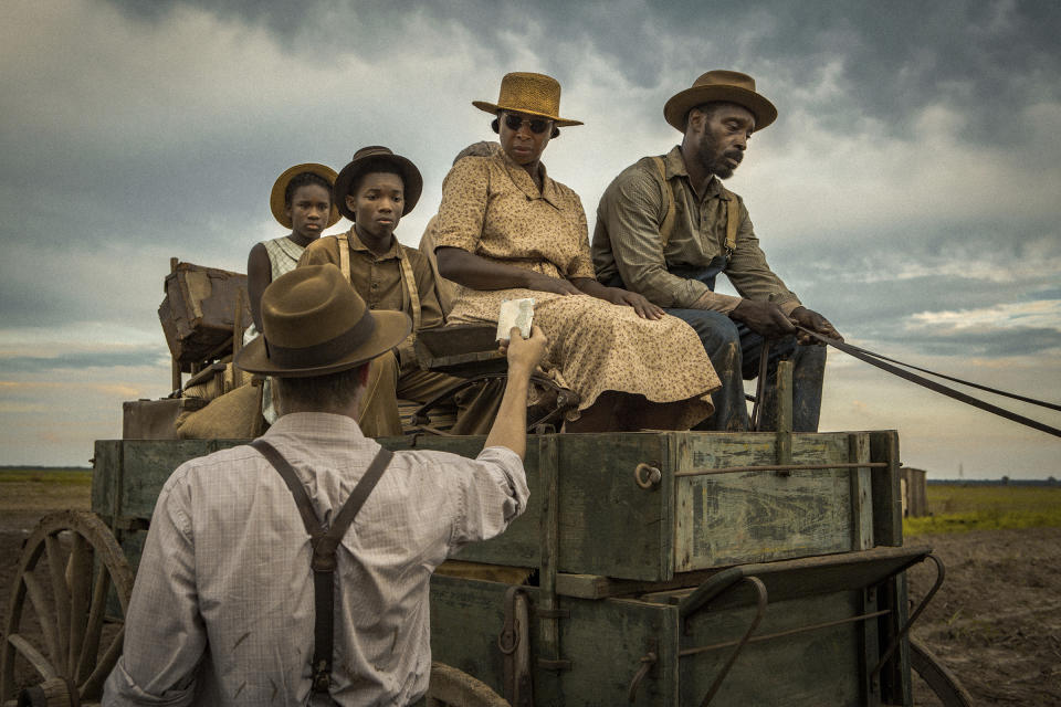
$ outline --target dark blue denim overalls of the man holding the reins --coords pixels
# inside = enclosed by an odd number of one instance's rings
[[[727,258],[714,257],[700,272],[671,270],[687,279],[698,279],[714,292],[715,277],[725,270]],[[621,284],[617,286],[622,286]],[[759,374],[763,337],[727,315],[706,309],[665,309],[670,315],[689,323],[704,345],[707,358],[722,381],[722,388],[712,393],[715,412],[700,423],[696,430],[740,432],[749,428],[748,407],[744,398],[744,380]],[[763,430],[777,429],[777,363],[791,360],[792,430],[817,432],[821,412],[821,383],[826,373],[826,347],[799,346],[795,336],[770,340],[767,359],[767,384],[759,414]]]

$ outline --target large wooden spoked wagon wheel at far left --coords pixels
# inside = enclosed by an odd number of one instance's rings
[[[112,589],[122,606],[120,621],[106,620]],[[133,571],[125,555],[95,515],[64,510],[42,518],[25,541],[4,616],[3,705],[15,704],[20,687],[15,656],[32,666],[45,692],[56,686],[63,692],[61,687],[69,685],[82,704],[98,700],[122,654],[132,591]]]

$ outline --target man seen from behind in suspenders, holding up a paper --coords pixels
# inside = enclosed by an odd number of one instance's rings
[[[166,482],[105,705],[410,704],[431,667],[431,573],[526,507],[539,330],[503,347],[501,409],[468,460],[390,453],[358,429],[368,361],[405,340],[407,315],[369,310],[332,264],[275,279],[261,313],[235,362],[277,381],[281,418]]]

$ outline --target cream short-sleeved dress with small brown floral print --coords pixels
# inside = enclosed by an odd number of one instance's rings
[[[435,247],[459,247],[550,277],[593,278],[581,201],[542,170],[539,190],[505,152],[460,160],[442,186]],[[519,297],[535,300],[534,321],[549,338],[543,368],[581,398],[569,420],[606,390],[686,401],[682,426],[711,414],[718,377],[700,338],[676,317],[642,319],[633,307],[589,295],[459,286],[448,320],[496,321],[502,300]]]

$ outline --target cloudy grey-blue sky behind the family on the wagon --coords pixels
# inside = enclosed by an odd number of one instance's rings
[[[168,392],[169,257],[243,272],[283,235],[291,165],[410,157],[416,244],[510,71],[556,76],[586,123],[545,161],[590,229],[611,178],[680,139],[669,96],[754,75],[780,117],[728,187],[802,300],[865,348],[1059,401],[1059,35],[1053,0],[4,0],[0,464],[86,464],[122,401]],[[838,352],[822,429],[897,429],[935,477],[1061,475],[1061,440]]]

